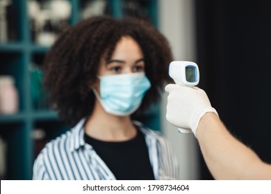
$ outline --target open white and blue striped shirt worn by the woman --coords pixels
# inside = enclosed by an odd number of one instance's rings
[[[50,141],[35,159],[33,179],[116,179],[91,145],[85,142],[82,119],[75,127]],[[178,179],[178,164],[172,147],[160,132],[133,122],[145,135],[155,179]]]

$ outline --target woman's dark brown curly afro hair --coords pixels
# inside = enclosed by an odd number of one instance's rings
[[[167,39],[148,21],[126,17],[91,17],[63,32],[45,56],[44,87],[49,89],[50,105],[68,125],[75,125],[92,113],[95,95],[91,86],[97,79],[99,62],[106,60],[123,36],[138,42],[145,59],[145,73],[151,88],[136,114],[157,103],[168,76],[172,51]]]

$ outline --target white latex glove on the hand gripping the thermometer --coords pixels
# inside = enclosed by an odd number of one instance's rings
[[[165,87],[167,96],[166,118],[172,125],[191,129],[196,136],[197,125],[206,112],[216,110],[203,89],[170,84]],[[218,114],[217,114],[218,116]]]

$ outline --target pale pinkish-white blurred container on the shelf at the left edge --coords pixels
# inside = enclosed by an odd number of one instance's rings
[[[18,92],[12,76],[0,76],[0,114],[18,112]]]

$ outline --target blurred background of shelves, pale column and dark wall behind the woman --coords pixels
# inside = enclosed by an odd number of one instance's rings
[[[174,60],[199,65],[199,87],[231,133],[271,163],[271,1],[0,0],[1,179],[31,179],[44,144],[69,129],[48,107],[42,60],[69,26],[104,14],[140,17],[156,26]],[[138,119],[170,139],[181,179],[213,179],[195,136],[178,134],[165,120],[166,103],[164,93]]]

